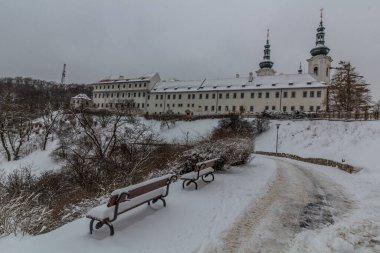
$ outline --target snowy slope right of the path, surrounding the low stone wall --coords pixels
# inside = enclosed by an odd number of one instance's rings
[[[344,159],[361,168],[347,174],[309,165],[343,185],[356,208],[337,224],[299,234],[292,252],[380,252],[380,122],[273,121],[270,130],[257,138],[256,150],[275,150],[277,123],[281,124],[279,152]],[[377,245],[377,251],[357,249],[366,244]]]

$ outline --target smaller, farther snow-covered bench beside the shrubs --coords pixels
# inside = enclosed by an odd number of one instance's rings
[[[185,189],[185,185],[189,186],[191,183],[195,185],[195,189],[198,189],[197,180],[202,178],[203,182],[210,183],[214,181],[214,167],[217,165],[219,158],[210,159],[204,162],[199,162],[195,165],[192,172],[186,173],[181,176],[183,180],[182,188]],[[211,177],[211,180],[207,180],[207,177]]]

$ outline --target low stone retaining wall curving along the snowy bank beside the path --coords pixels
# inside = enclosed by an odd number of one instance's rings
[[[268,156],[277,156],[277,157],[285,157],[290,158],[294,160],[298,160],[301,162],[307,162],[307,163],[314,163],[318,165],[324,165],[324,166],[330,166],[330,167],[338,167],[339,169],[352,173],[354,171],[354,167],[349,164],[339,163],[328,159],[323,158],[304,158],[293,154],[287,154],[287,153],[274,153],[274,152],[263,152],[263,151],[256,151],[256,154],[259,155],[268,155]]]

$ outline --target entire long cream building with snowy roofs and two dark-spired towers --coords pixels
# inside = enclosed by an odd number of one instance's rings
[[[259,113],[263,111],[316,112],[326,109],[327,84],[332,59],[324,45],[322,19],[316,46],[310,51],[308,73],[276,74],[270,61],[269,31],[257,76],[161,81],[158,73],[127,79],[109,77],[94,84],[93,103],[112,109],[126,100],[141,114],[173,112],[186,115]]]

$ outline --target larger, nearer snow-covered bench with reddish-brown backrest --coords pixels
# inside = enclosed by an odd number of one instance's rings
[[[164,198],[169,194],[170,183],[176,178],[173,174],[167,174],[113,191],[107,204],[97,206],[87,213],[86,217],[91,219],[90,234],[93,231],[94,221],[98,221],[95,225],[96,229],[106,224],[110,228],[110,234],[113,235],[112,222],[117,219],[118,215],[144,203],[150,205],[151,202],[155,203],[161,200],[166,207]]]

